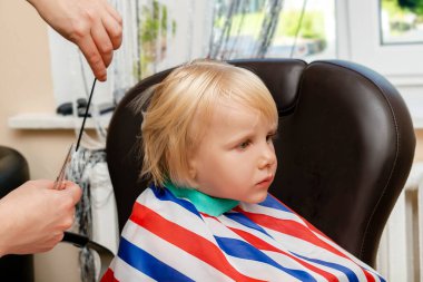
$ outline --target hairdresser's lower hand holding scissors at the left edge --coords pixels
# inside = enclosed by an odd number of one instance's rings
[[[0,200],[0,256],[46,252],[73,223],[81,189],[71,182],[52,189],[51,181],[31,181]]]

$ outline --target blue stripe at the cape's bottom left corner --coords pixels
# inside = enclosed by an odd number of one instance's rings
[[[139,272],[157,281],[194,281],[124,237],[120,239],[118,256]]]

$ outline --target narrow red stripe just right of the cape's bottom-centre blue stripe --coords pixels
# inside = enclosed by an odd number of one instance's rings
[[[259,250],[264,250],[264,251],[270,251],[270,252],[277,252],[277,253],[282,253],[286,256],[289,256],[291,259],[293,259],[294,261],[298,262],[299,264],[302,264],[303,266],[309,269],[311,271],[315,272],[315,273],[318,273],[321,274],[322,276],[324,276],[325,279],[327,279],[327,281],[338,281],[338,279],[333,275],[332,273],[328,273],[324,270],[321,270],[287,252],[284,252],[279,249],[276,249],[275,246],[268,244],[267,242],[263,241],[262,239],[259,237],[256,237],[252,234],[249,234],[248,232],[245,232],[243,230],[238,230],[238,228],[234,228],[234,227],[229,227],[232,231],[234,231],[236,234],[238,234],[240,237],[243,237],[245,241],[247,241],[248,243],[250,243],[252,245],[254,245],[255,247],[259,249]]]

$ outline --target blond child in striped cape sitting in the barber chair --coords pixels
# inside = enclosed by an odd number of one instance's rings
[[[102,281],[384,281],[267,193],[278,115],[257,76],[194,61],[149,99],[141,175],[153,184]]]

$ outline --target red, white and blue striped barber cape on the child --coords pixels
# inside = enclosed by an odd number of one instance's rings
[[[210,216],[153,186],[101,281],[385,280],[272,195]]]

